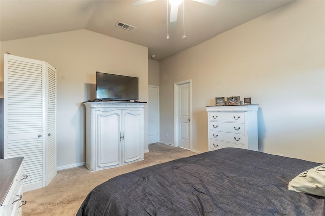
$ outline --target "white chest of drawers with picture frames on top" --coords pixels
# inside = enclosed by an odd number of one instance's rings
[[[258,151],[258,105],[206,106],[209,151],[235,147]]]

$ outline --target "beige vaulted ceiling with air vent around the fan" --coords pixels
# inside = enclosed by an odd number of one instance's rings
[[[0,0],[0,41],[87,29],[148,47],[149,58],[163,60],[294,0],[185,0],[176,22],[168,22],[168,0],[135,1]],[[116,27],[118,21],[136,28]]]

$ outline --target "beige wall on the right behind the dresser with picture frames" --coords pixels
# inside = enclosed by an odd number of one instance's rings
[[[160,134],[174,134],[173,83],[192,79],[193,150],[208,150],[206,105],[259,104],[259,150],[325,162],[325,1],[295,1],[160,62]],[[161,135],[174,143],[174,137]]]

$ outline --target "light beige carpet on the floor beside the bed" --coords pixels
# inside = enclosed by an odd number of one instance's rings
[[[22,207],[22,215],[76,215],[87,194],[108,179],[191,155],[196,153],[155,143],[149,145],[143,161],[96,172],[90,172],[85,166],[58,171],[48,186],[24,193],[27,204]]]

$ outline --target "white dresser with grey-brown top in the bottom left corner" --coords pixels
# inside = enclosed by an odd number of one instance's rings
[[[22,197],[23,157],[0,160],[0,216],[21,215],[21,207],[26,204]]]

